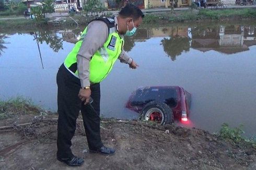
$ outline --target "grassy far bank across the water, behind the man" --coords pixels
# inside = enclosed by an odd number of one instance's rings
[[[182,23],[182,22],[208,22],[208,21],[229,21],[229,20],[249,20],[256,18],[255,8],[237,8],[237,9],[185,9],[185,10],[153,10],[145,15],[143,25],[159,25],[167,23]],[[114,15],[113,13],[108,14]],[[30,19],[8,19],[0,20],[0,29],[31,29],[42,27],[74,27],[86,26],[87,23],[94,19],[95,16],[75,15],[68,16],[62,14],[62,17],[49,15],[45,21],[36,21]]]

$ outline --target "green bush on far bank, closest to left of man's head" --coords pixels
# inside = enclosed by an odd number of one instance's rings
[[[98,13],[100,13],[103,10],[104,8],[102,7],[100,0],[87,0],[86,4],[84,5],[84,11],[86,14],[96,13],[98,15]]]

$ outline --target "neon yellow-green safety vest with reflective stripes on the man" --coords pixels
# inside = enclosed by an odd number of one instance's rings
[[[86,35],[87,27],[83,31],[81,38],[76,43],[73,50],[67,55],[64,65],[69,71],[74,72],[78,77],[76,55]],[[92,83],[98,83],[106,78],[112,70],[113,64],[118,59],[124,44],[123,39],[115,31],[115,28],[109,29],[109,37],[99,50],[91,57],[89,63],[89,80]]]

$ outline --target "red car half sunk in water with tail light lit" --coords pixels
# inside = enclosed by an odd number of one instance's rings
[[[174,119],[187,122],[191,94],[179,86],[151,86],[135,90],[126,107],[141,114],[141,120],[172,124]]]

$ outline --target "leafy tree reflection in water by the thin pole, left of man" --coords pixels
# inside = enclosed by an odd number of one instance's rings
[[[57,35],[51,31],[39,31],[39,34],[35,39],[37,39],[41,44],[43,42],[48,45],[50,44],[50,47],[54,52],[58,52],[60,49],[63,49],[63,39],[57,37]]]

